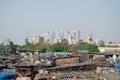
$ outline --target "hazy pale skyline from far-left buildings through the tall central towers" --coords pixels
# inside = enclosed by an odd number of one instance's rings
[[[29,42],[33,43],[39,43],[39,38],[44,38],[44,41],[42,42],[50,42],[54,43],[54,40],[57,38],[60,38],[60,40],[66,39],[71,42],[71,40],[75,40],[75,43],[78,42],[81,39],[81,33],[79,29],[74,30],[51,30],[44,32],[43,34],[35,34],[32,37],[29,37],[29,35],[26,35],[24,41],[27,39]],[[2,43],[8,44],[10,41],[12,41],[10,38],[6,37],[3,40],[1,40]],[[19,43],[19,42],[18,42]]]

